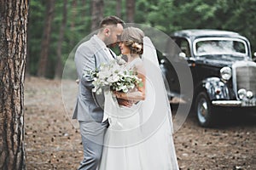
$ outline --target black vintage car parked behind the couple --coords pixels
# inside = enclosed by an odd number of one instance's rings
[[[256,63],[250,43],[232,31],[183,30],[172,35],[181,51],[172,53],[167,42],[160,66],[168,82],[171,98],[189,100],[180,93],[173,65],[186,61],[194,87],[192,106],[201,126],[209,127],[217,118],[217,108],[242,108],[256,112]],[[179,100],[180,101],[180,100]]]

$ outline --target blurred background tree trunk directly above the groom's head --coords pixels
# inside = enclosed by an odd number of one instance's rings
[[[92,11],[91,11],[91,31],[96,31],[98,26],[103,19],[103,9],[104,1],[103,0],[92,0]]]

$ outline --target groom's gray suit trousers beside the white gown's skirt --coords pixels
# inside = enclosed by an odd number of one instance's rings
[[[79,170],[96,170],[102,157],[104,135],[108,127],[106,122],[79,121],[84,159],[80,162]]]

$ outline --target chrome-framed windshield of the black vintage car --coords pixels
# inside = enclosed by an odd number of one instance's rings
[[[246,42],[238,38],[207,37],[199,38],[194,42],[195,55],[207,54],[232,54],[239,56],[247,55]]]

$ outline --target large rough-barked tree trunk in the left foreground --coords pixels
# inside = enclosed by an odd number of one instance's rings
[[[0,1],[0,169],[26,169],[24,75],[27,0]]]

